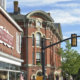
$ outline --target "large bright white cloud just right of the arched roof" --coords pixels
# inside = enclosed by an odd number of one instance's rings
[[[51,13],[55,22],[62,23],[62,24],[71,24],[71,23],[79,23],[80,24],[80,10],[75,12],[74,10],[67,11],[62,9],[50,10],[48,11]],[[76,15],[79,14],[79,15]]]

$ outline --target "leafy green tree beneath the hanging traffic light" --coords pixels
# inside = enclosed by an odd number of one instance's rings
[[[58,52],[62,57],[62,73],[63,76],[74,76],[78,73],[80,69],[80,56],[78,52],[74,49],[71,49],[71,44],[69,41],[66,41],[65,49],[61,48]]]

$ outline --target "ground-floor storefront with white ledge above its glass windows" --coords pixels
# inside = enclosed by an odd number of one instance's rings
[[[23,60],[0,52],[0,80],[20,80]]]

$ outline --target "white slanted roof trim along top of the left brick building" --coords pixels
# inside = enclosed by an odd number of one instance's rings
[[[22,28],[9,16],[9,14],[3,9],[0,7],[0,11],[10,20],[10,22],[15,25],[15,27],[20,31],[22,32]]]

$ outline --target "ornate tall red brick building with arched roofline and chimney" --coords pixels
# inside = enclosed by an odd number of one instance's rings
[[[45,45],[50,45],[62,40],[60,23],[54,23],[50,13],[41,10],[32,11],[26,15],[20,14],[18,2],[14,2],[12,18],[23,29],[22,38],[22,69],[27,72],[27,80],[37,79],[42,75],[41,38],[45,37]],[[57,54],[60,44],[45,50],[46,78],[48,80],[60,80],[61,57]]]

